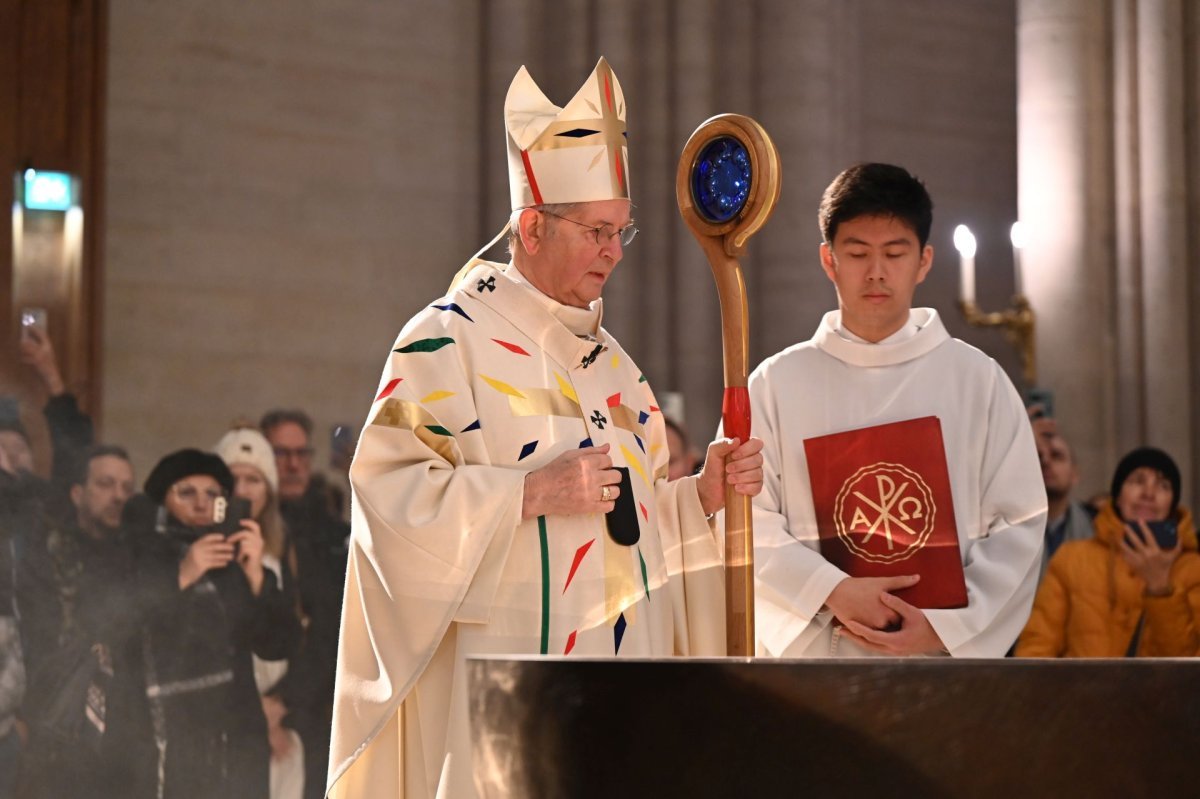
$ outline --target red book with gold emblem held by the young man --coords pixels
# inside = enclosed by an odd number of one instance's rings
[[[821,554],[851,577],[920,575],[895,595],[966,607],[954,498],[937,416],[804,441]]]

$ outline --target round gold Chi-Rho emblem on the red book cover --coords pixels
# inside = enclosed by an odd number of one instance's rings
[[[922,476],[899,463],[863,467],[842,483],[834,501],[838,537],[871,563],[917,554],[934,531],[936,512]]]

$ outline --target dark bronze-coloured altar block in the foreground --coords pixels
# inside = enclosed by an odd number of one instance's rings
[[[469,663],[484,795],[1136,797],[1200,783],[1188,660]]]

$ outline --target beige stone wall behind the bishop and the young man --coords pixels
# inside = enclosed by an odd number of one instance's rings
[[[110,20],[104,437],[139,474],[239,415],[308,409],[324,446],[359,425],[395,334],[508,214],[500,108],[528,65],[562,103],[600,54],[630,106],[642,228],[606,325],[704,440],[720,405],[716,296],[674,209],[706,118],[756,116],[784,164],[750,245],[752,362],[834,305],[816,206],[844,167],[901,163],[935,200],[917,301],[956,310],[950,245],[980,239],[978,296],[1012,293],[1013,0],[179,0]],[[799,400],[799,398],[798,398]]]

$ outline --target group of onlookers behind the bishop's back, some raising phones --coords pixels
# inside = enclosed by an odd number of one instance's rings
[[[349,525],[295,409],[139,491],[53,343],[20,358],[52,463],[0,420],[0,799],[323,797]]]

